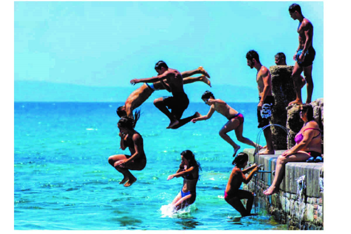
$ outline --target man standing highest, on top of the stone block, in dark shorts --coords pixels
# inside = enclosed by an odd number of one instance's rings
[[[314,51],[312,46],[313,25],[310,20],[306,19],[302,15],[301,7],[296,3],[290,5],[289,14],[293,20],[299,21],[299,25],[297,27],[297,33],[299,34],[299,45],[297,47],[296,53],[294,54],[294,60],[296,62],[292,72],[296,92],[296,100],[290,102],[289,105],[301,105],[301,88],[305,85],[305,83],[307,83],[306,103],[310,103],[312,99],[312,63],[314,56],[316,55],[316,51]],[[303,80],[301,80],[302,71],[304,72],[305,83]]]

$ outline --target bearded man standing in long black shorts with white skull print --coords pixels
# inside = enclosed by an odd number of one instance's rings
[[[259,103],[257,105],[257,119],[258,128],[269,125],[271,119],[272,108],[274,105],[274,97],[272,94],[272,79],[269,69],[262,66],[258,53],[254,50],[247,52],[246,54],[247,66],[251,69],[257,69],[256,82],[259,94]],[[266,149],[259,154],[274,154],[272,132],[270,127],[266,127],[263,130],[263,134],[266,139]]]

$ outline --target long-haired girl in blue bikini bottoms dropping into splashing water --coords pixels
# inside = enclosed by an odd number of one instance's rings
[[[167,180],[174,177],[183,177],[183,188],[180,190],[176,198],[172,201],[174,209],[179,210],[191,205],[196,199],[196,184],[199,180],[200,164],[195,160],[193,152],[186,150],[181,152],[181,162],[179,169],[175,174],[169,175]]]

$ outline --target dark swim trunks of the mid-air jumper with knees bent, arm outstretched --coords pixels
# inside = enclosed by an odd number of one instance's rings
[[[189,105],[189,99],[186,93],[173,94],[173,96],[163,97],[163,101],[171,113],[179,120],[183,112]]]

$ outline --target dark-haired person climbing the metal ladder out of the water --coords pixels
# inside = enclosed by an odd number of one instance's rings
[[[247,165],[249,156],[243,152],[239,153],[238,156],[233,160],[232,164],[235,165],[233,168],[227,186],[225,187],[224,200],[228,202],[234,209],[238,210],[242,217],[253,215],[251,214],[251,209],[253,205],[253,195],[251,192],[243,189],[239,189],[241,183],[249,183],[252,179],[252,176],[257,172],[258,167],[256,164],[252,165],[241,171],[241,168],[244,168]],[[251,171],[251,172],[250,172]],[[246,177],[245,174],[250,174]],[[247,199],[246,208],[241,199]]]

